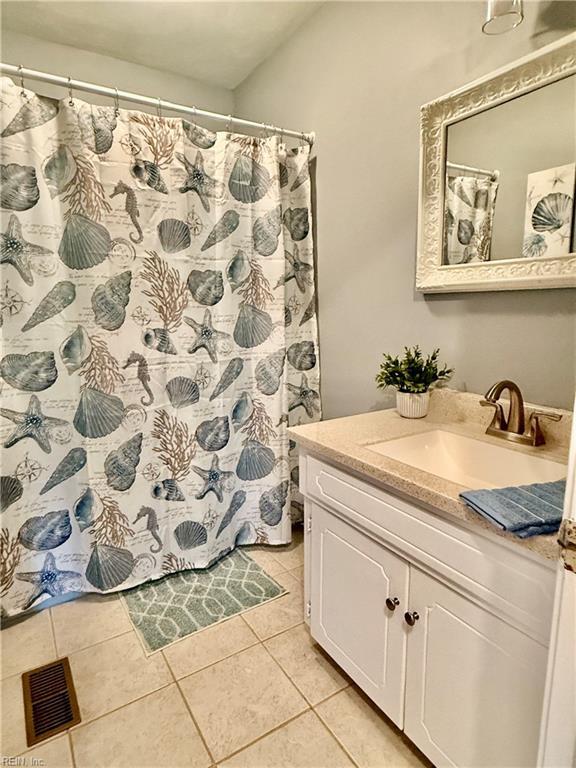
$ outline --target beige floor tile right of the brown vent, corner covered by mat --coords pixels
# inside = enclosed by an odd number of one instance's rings
[[[84,721],[172,681],[162,654],[146,657],[133,632],[71,654],[70,666]]]

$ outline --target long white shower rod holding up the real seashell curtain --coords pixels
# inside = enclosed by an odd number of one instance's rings
[[[222,115],[219,112],[208,112],[205,109],[197,109],[196,107],[187,107],[184,104],[176,104],[173,101],[165,101],[164,99],[153,98],[151,96],[142,96],[139,93],[131,93],[130,91],[121,91],[116,88],[108,88],[104,85],[96,85],[95,83],[87,83],[84,80],[73,80],[70,77],[62,77],[61,75],[51,75],[48,72],[39,72],[35,69],[27,69],[26,67],[16,66],[15,64],[0,63],[0,72],[6,75],[12,75],[19,77],[21,80],[42,80],[52,85],[60,85],[63,88],[68,88],[72,91],[85,91],[87,93],[97,93],[100,96],[108,96],[111,99],[122,101],[133,101],[136,104],[145,104],[156,109],[166,109],[171,112],[182,112],[186,115],[192,115],[196,117],[207,117],[210,120],[216,120],[218,122],[226,122],[230,125],[242,126],[244,128],[259,128],[265,129],[271,133],[278,133],[280,136],[292,136],[296,139],[308,142],[310,146],[314,144],[315,134],[304,133],[304,131],[291,131],[286,128],[279,128],[275,125],[268,125],[267,123],[256,123],[253,120],[244,120],[240,117],[233,117],[232,115]]]

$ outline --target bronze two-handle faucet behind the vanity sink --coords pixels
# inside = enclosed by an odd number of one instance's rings
[[[507,415],[504,414],[504,409],[498,402],[504,390],[508,390],[510,397]],[[522,397],[520,387],[508,379],[499,381],[490,387],[488,392],[486,392],[484,400],[480,400],[480,405],[490,405],[495,409],[494,417],[486,429],[487,435],[501,437],[504,440],[512,440],[523,445],[544,445],[544,433],[540,426],[540,419],[560,421],[562,418],[559,413],[534,411],[528,417],[528,431],[525,432],[524,398]]]

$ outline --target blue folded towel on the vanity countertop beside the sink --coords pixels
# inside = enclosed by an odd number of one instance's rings
[[[494,525],[521,539],[560,528],[566,481],[464,491],[460,497]]]

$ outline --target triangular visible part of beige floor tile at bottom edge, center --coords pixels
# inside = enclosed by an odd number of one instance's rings
[[[313,712],[268,734],[220,768],[347,768],[354,764]]]

